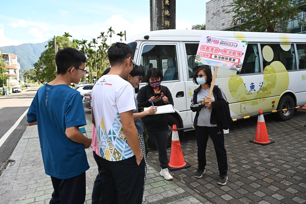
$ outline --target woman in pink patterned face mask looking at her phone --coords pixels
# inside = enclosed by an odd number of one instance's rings
[[[164,106],[167,104],[171,104],[172,106],[174,105],[169,89],[160,85],[162,79],[162,72],[159,69],[151,68],[147,71],[146,82],[148,84],[140,88],[138,92],[138,107],[150,107],[152,106],[152,103],[154,106]],[[172,180],[173,177],[170,175],[167,168],[168,155],[166,146],[169,131],[167,114],[148,115],[143,117],[142,120],[149,135],[149,146],[153,137],[155,137],[156,140],[159,162],[162,168],[159,175],[163,176],[166,180]]]

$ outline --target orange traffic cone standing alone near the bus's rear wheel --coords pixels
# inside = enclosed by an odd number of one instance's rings
[[[265,119],[263,118],[262,109],[259,110],[259,114],[260,115],[258,116],[258,120],[257,120],[255,140],[250,140],[250,142],[261,144],[261,145],[267,145],[267,144],[274,143],[275,141],[269,140]]]

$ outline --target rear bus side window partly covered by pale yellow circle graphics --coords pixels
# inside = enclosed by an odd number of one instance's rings
[[[261,51],[265,46],[269,46],[273,50],[273,59],[270,60],[269,57],[264,57],[264,53],[262,52],[263,55],[263,69],[267,65],[270,65],[274,61],[280,61],[286,70],[296,70],[296,58],[295,58],[295,51],[294,51],[294,46],[293,44],[289,45],[284,45],[281,46],[280,44],[260,44],[261,46]],[[267,53],[267,56],[271,53]],[[267,61],[268,60],[268,61]]]

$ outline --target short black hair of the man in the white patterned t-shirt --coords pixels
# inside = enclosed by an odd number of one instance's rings
[[[133,50],[125,43],[115,43],[107,50],[108,59],[112,66],[118,66],[122,64],[126,57],[132,57]]]

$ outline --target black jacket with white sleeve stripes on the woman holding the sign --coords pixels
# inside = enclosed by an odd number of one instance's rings
[[[193,96],[191,98],[190,109],[193,112],[196,112],[196,117],[193,121],[193,127],[196,128],[197,120],[199,117],[200,110],[204,107],[201,102],[197,102],[197,95],[200,91],[201,86],[194,90]],[[211,111],[211,124],[217,124],[219,130],[221,129],[229,129],[231,122],[233,122],[230,117],[230,107],[229,103],[226,100],[226,97],[219,86],[214,86],[213,95],[215,97],[215,102],[211,102],[212,111]]]

